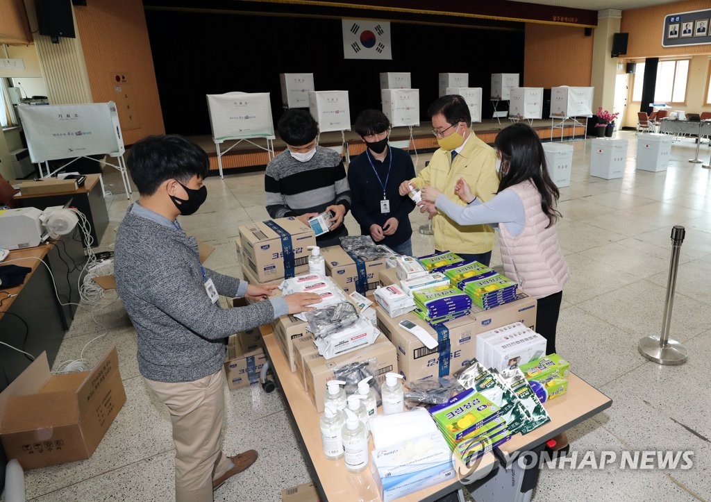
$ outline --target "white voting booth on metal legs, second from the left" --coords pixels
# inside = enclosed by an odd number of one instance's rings
[[[218,154],[220,178],[223,178],[222,156],[242,141],[267,151],[270,160],[274,157],[274,122],[272,122],[269,92],[235,91],[206,96],[210,127],[213,130],[213,141]],[[251,141],[257,138],[267,139],[267,146]],[[222,144],[225,141],[235,142],[223,151]]]

